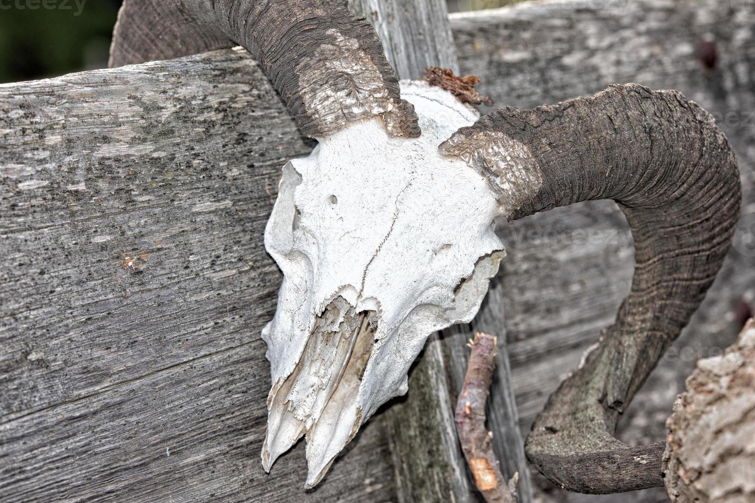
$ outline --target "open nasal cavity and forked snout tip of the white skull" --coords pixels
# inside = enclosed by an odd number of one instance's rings
[[[317,318],[300,363],[272,397],[262,452],[266,471],[306,432],[307,484],[313,486],[351,440],[362,417],[356,397],[376,319],[374,311],[355,313],[340,296]],[[344,424],[352,426],[339,429]]]

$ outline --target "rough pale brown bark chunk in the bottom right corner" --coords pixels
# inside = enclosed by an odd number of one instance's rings
[[[724,354],[698,361],[667,428],[663,471],[671,501],[755,499],[755,320]]]

